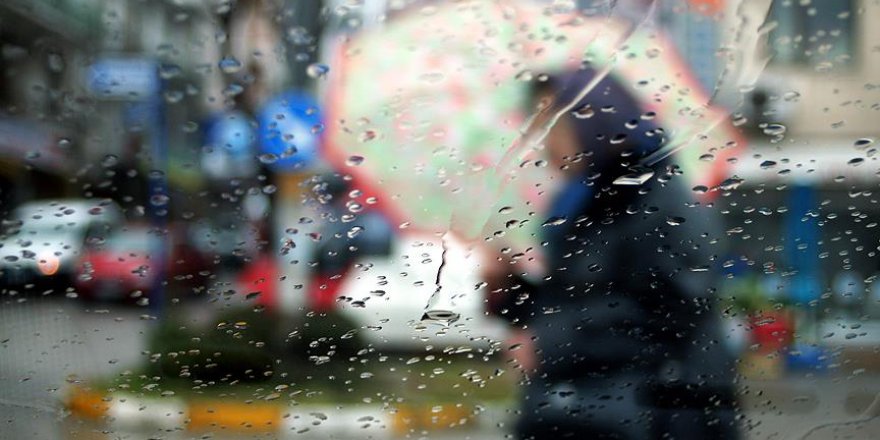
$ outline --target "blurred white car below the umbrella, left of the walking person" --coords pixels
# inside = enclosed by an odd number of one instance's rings
[[[450,240],[440,277],[440,301],[434,307],[458,315],[454,322],[423,320],[436,290],[443,245],[432,236],[398,236],[388,256],[356,260],[338,294],[341,313],[361,328],[366,342],[397,349],[487,348],[505,337],[506,325],[486,314],[486,288],[479,276],[479,255]]]

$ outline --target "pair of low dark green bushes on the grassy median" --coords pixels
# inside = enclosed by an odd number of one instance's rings
[[[273,315],[236,309],[204,329],[177,320],[150,337],[148,371],[166,378],[259,381],[286,368],[294,377],[347,377],[349,358],[364,348],[357,325],[335,312],[309,313],[283,330]],[[290,363],[277,362],[282,359]]]

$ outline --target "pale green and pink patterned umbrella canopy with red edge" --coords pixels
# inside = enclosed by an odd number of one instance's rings
[[[345,44],[331,64],[325,155],[400,223],[537,247],[554,180],[522,139],[531,83],[584,65],[656,112],[695,184],[717,183],[723,170],[692,164],[735,134],[662,36],[522,1],[428,6]]]

